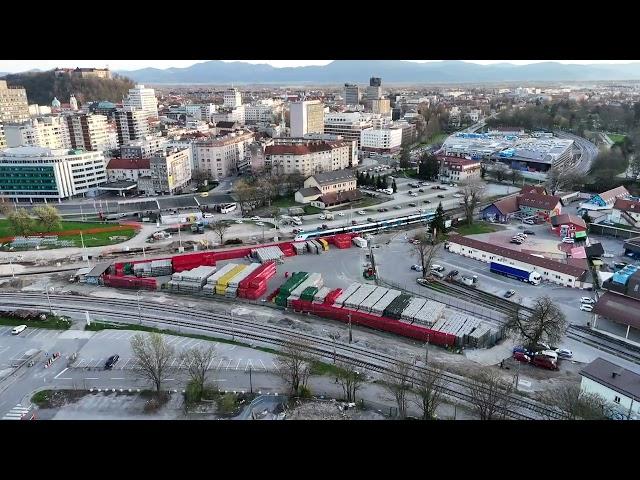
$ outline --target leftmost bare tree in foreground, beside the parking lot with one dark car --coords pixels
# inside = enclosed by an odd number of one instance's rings
[[[140,375],[153,382],[160,393],[169,365],[176,359],[175,349],[159,333],[138,333],[131,338],[131,350]]]

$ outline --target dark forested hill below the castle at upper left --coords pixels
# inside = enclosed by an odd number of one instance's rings
[[[23,87],[27,90],[30,104],[51,105],[54,97],[62,103],[68,103],[73,93],[79,104],[94,100],[121,102],[122,97],[134,86],[132,80],[114,75],[105,78],[76,78],[64,75],[56,77],[53,70],[48,72],[15,73],[4,77],[9,86]]]

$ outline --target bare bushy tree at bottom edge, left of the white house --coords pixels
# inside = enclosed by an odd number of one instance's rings
[[[607,401],[595,393],[582,391],[580,385],[569,385],[542,395],[542,401],[562,410],[566,420],[604,420],[607,418]],[[555,417],[549,415],[550,420]]]

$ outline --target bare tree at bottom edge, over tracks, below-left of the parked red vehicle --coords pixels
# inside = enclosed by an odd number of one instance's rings
[[[504,418],[513,382],[506,382],[493,370],[483,370],[470,378],[469,402],[480,420]]]

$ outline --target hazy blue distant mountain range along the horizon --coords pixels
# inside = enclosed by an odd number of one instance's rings
[[[416,63],[402,60],[336,60],[324,66],[276,68],[267,64],[212,60],[186,68],[119,71],[136,82],[162,84],[339,84],[553,82],[639,80],[640,63],[566,65],[557,62],[478,65],[463,61]]]

